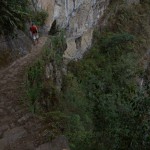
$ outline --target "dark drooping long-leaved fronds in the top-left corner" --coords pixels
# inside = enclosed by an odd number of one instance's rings
[[[0,1],[0,34],[10,34],[15,28],[24,29],[28,0]]]

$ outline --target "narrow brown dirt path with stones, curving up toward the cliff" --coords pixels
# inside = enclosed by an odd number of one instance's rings
[[[42,121],[20,99],[25,69],[40,55],[46,39],[41,37],[31,53],[0,71],[0,150],[35,150],[44,138]]]

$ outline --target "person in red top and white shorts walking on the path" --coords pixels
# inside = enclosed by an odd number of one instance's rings
[[[30,32],[31,32],[31,36],[33,38],[34,41],[34,45],[36,44],[36,42],[39,42],[39,34],[38,34],[38,28],[35,24],[32,23],[31,27],[30,27]]]

